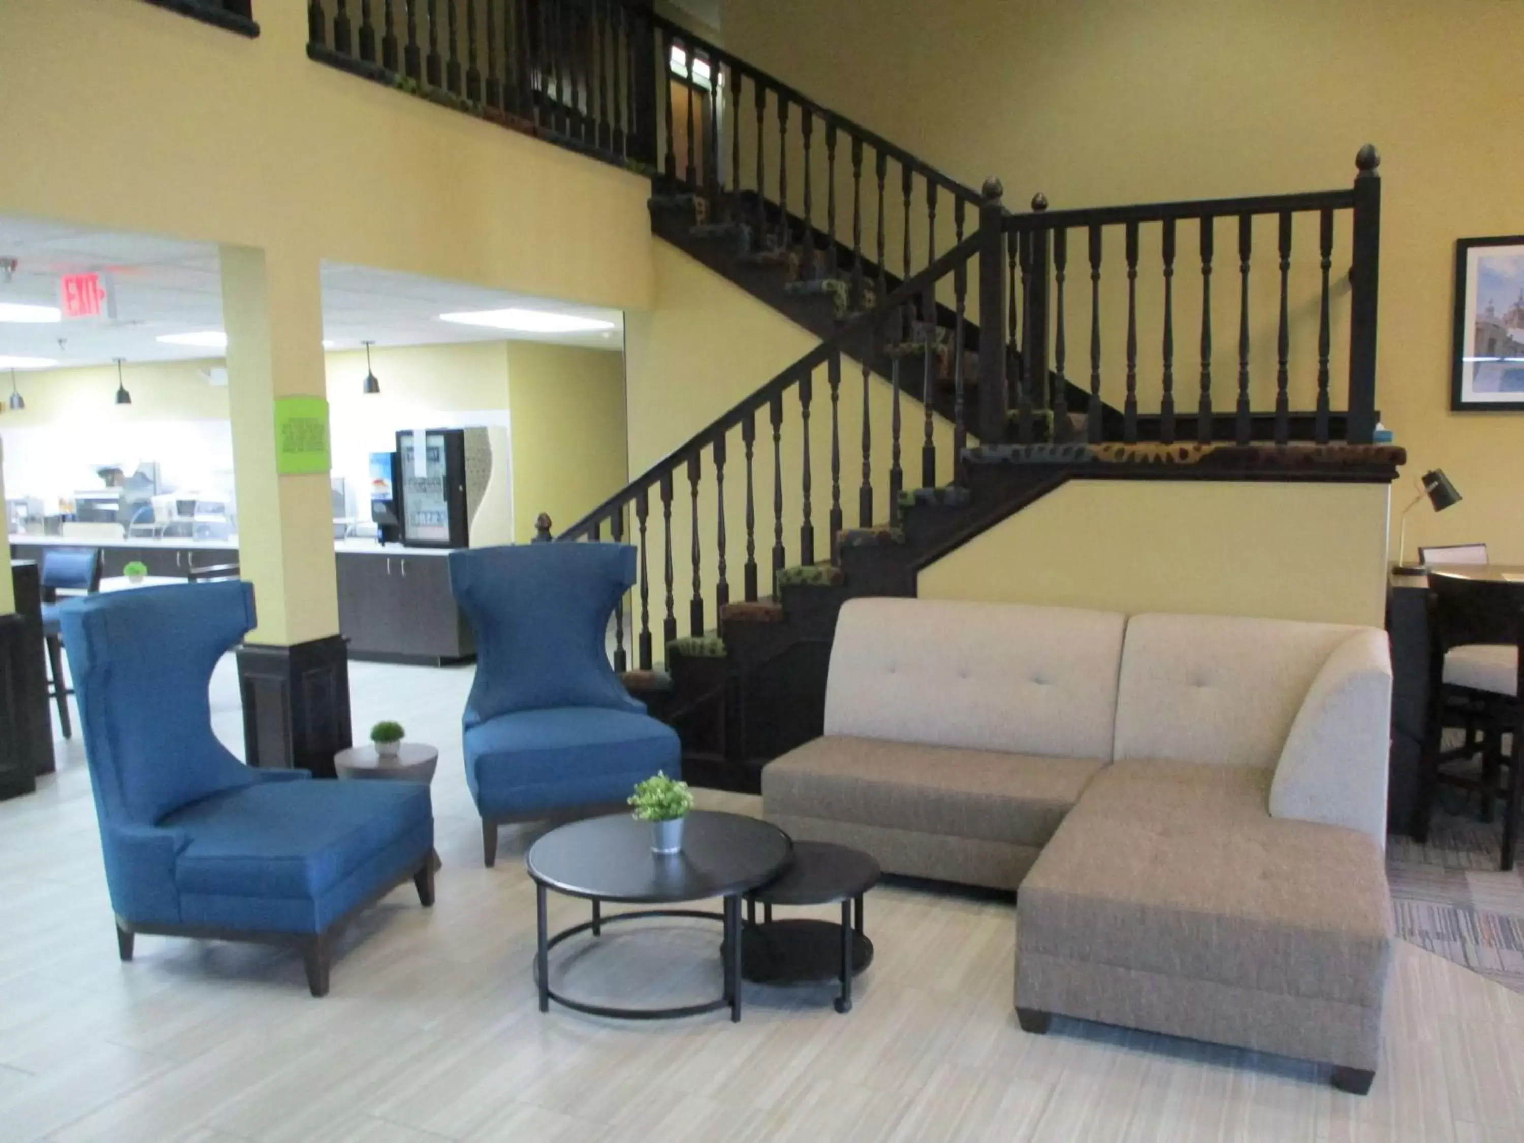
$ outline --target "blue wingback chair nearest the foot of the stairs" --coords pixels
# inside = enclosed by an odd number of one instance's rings
[[[678,776],[677,733],[629,696],[604,645],[634,582],[628,544],[450,553],[451,588],[475,629],[465,757],[486,864],[506,821],[623,803],[658,770]]]

